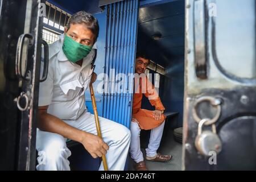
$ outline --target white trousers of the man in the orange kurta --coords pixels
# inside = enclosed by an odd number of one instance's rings
[[[165,121],[158,127],[151,130],[150,141],[148,147],[146,148],[146,155],[153,157],[157,154],[158,147],[163,135]],[[139,138],[141,133],[141,128],[137,122],[131,122],[131,144],[130,144],[130,155],[136,163],[143,161],[143,154],[141,151],[141,140]]]

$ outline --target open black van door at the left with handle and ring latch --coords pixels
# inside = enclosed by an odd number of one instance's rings
[[[0,169],[35,169],[44,8],[40,1],[0,1]]]

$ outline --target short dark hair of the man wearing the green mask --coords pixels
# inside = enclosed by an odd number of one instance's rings
[[[93,32],[95,36],[95,41],[98,38],[98,31],[100,27],[98,26],[98,20],[94,18],[93,15],[86,13],[85,11],[79,11],[69,18],[67,23],[67,30],[70,28],[71,24],[81,24],[84,23],[85,26]]]

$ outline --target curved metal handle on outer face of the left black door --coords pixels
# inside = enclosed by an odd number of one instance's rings
[[[25,38],[28,38],[28,39],[32,40],[33,36],[31,34],[22,34],[22,35],[19,36],[17,49],[16,49],[16,59],[15,59],[15,73],[16,73],[16,76],[18,76],[18,78],[20,78],[24,81],[29,80],[27,77],[22,75],[22,65],[21,65],[21,63],[22,63],[23,43],[24,43]],[[27,59],[26,59],[26,61],[27,61]],[[25,75],[26,75],[26,72],[27,71],[25,71]]]

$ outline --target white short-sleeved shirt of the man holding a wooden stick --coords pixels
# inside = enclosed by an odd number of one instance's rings
[[[60,119],[77,119],[86,110],[85,90],[92,76],[94,49],[84,57],[82,66],[65,56],[64,36],[49,45],[49,67],[46,81],[39,85],[39,106],[47,106],[47,113]],[[43,62],[41,62],[41,73]]]

